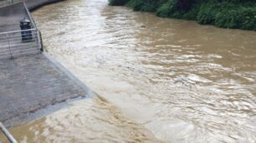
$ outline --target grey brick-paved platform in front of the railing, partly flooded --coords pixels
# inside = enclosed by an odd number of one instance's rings
[[[12,126],[13,118],[29,114],[86,91],[43,54],[0,61],[0,121]],[[17,121],[17,120],[16,120]]]

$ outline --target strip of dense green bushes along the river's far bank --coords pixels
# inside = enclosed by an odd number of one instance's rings
[[[256,0],[110,0],[110,5],[156,12],[159,17],[256,31]]]

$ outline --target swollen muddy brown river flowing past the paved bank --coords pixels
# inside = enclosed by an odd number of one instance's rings
[[[256,142],[256,32],[69,0],[33,12],[99,96],[13,128],[20,142]]]

